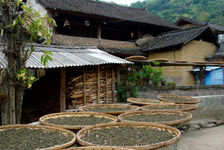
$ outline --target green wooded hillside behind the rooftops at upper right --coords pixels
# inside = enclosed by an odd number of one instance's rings
[[[185,16],[196,20],[224,25],[223,0],[144,0],[132,3],[131,7],[144,8],[167,21],[175,22]]]

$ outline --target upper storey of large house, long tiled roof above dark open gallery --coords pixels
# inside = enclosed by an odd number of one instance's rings
[[[144,9],[92,0],[27,0],[27,4],[54,18],[56,44],[95,45],[122,58],[144,55],[135,41],[145,34],[178,29]]]

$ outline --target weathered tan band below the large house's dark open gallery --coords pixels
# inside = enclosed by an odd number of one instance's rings
[[[135,42],[115,41],[106,39],[102,39],[101,41],[99,41],[96,38],[68,36],[61,34],[55,34],[52,40],[54,44],[59,45],[70,45],[70,46],[95,45],[103,51],[121,57],[144,55],[144,53],[140,50],[140,47],[138,47],[135,44]]]

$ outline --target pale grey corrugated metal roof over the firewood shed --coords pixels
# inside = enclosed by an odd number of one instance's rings
[[[0,68],[6,67],[7,61],[0,50]],[[41,56],[44,51],[50,51],[53,61],[49,61],[44,67],[41,64]],[[132,62],[108,54],[99,50],[96,46],[43,46],[35,45],[35,51],[27,60],[27,68],[61,68],[76,66],[91,66],[103,64],[132,64]]]

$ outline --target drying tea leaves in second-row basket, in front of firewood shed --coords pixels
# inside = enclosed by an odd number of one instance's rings
[[[100,123],[108,123],[113,120],[106,117],[96,117],[94,115],[89,115],[89,116],[66,116],[66,117],[62,116],[56,118],[49,118],[44,121],[55,125],[86,126]]]

